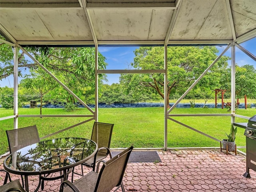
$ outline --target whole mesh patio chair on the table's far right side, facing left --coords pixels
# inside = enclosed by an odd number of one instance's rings
[[[113,127],[114,127],[114,124],[94,122],[94,125],[92,128],[91,140],[97,143],[98,151],[96,152],[94,157],[90,158],[89,160],[87,160],[81,165],[82,174],[74,172],[74,168],[73,168],[72,181],[73,181],[74,174],[78,174],[80,176],[84,175],[83,165],[92,167],[92,170],[94,171],[96,162],[103,160],[108,155],[110,155],[110,158],[111,158],[111,153],[109,148],[110,148]]]

